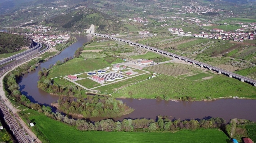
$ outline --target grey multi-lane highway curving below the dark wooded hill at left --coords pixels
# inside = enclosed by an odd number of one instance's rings
[[[10,57],[5,58],[5,59],[2,59],[2,60],[0,61],[0,65],[2,65],[2,64],[4,64],[4,63],[7,63],[7,62],[9,62],[9,61],[11,61],[11,60],[13,60],[13,59],[15,59],[15,58],[20,57],[20,56],[26,55],[26,54],[28,54],[28,53],[30,53],[30,52],[34,52],[34,51],[40,52],[42,47],[43,47],[43,44],[38,42],[36,46],[30,48],[29,50],[26,50],[26,51],[24,51],[24,52],[22,52],[22,53],[19,53],[19,54],[10,56]]]

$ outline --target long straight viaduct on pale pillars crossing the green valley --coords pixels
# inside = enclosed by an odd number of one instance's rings
[[[113,40],[117,40],[117,41],[121,41],[121,42],[125,42],[125,43],[129,43],[129,44],[136,45],[136,46],[139,46],[139,47],[142,47],[142,48],[146,48],[148,50],[152,50],[154,52],[161,53],[161,54],[173,57],[173,58],[178,58],[178,59],[184,60],[186,62],[191,62],[192,64],[199,65],[200,67],[208,68],[209,70],[216,71],[220,74],[224,74],[224,75],[227,75],[229,77],[233,77],[233,78],[239,79],[240,81],[243,81],[243,82],[245,81],[249,84],[252,84],[252,85],[256,86],[256,80],[254,80],[254,79],[250,79],[248,77],[241,76],[241,75],[229,72],[227,70],[224,70],[224,69],[221,69],[221,68],[218,68],[218,67],[214,67],[214,66],[211,66],[211,65],[199,62],[199,61],[195,61],[194,59],[190,59],[190,58],[183,57],[183,56],[173,54],[173,53],[170,53],[170,52],[166,52],[166,51],[154,48],[154,47],[146,46],[146,45],[143,45],[143,44],[135,43],[135,42],[124,40],[124,39],[119,39],[119,38],[104,35],[104,34],[98,34],[98,33],[92,33],[92,34],[97,35],[97,36],[101,36],[101,37],[106,37],[106,38],[113,39]]]

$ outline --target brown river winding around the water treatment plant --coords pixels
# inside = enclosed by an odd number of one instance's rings
[[[19,80],[21,93],[26,95],[32,102],[50,105],[58,100],[58,96],[53,96],[37,88],[38,71],[49,65],[55,64],[58,60],[74,55],[75,50],[83,43],[90,41],[90,37],[84,35],[76,36],[77,42],[67,47],[61,54],[42,63],[36,70],[24,75]],[[61,71],[60,71],[61,72]],[[199,93],[200,94],[200,93]],[[124,115],[115,120],[127,118],[151,118],[156,119],[158,114],[168,115],[170,119],[202,119],[210,117],[221,117],[227,122],[232,118],[242,118],[256,121],[256,100],[249,99],[219,99],[215,101],[196,101],[196,102],[175,102],[157,101],[155,99],[119,99],[134,108],[130,114]],[[54,110],[60,111],[60,110]],[[76,117],[74,117],[76,118]],[[91,118],[92,121],[99,121],[104,118]]]

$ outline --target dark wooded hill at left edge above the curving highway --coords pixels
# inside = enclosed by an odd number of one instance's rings
[[[0,54],[17,52],[31,45],[31,40],[22,35],[0,32],[0,37]]]

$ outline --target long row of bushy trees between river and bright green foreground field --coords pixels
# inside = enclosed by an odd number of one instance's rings
[[[158,115],[157,120],[153,119],[124,119],[123,121],[114,121],[112,119],[101,120],[97,122],[90,122],[82,119],[70,119],[61,113],[46,113],[50,118],[62,121],[73,126],[79,130],[97,130],[97,131],[179,131],[179,130],[196,130],[200,128],[213,129],[219,128],[225,130],[226,121],[222,118],[210,118],[202,120],[173,120],[167,116]]]

